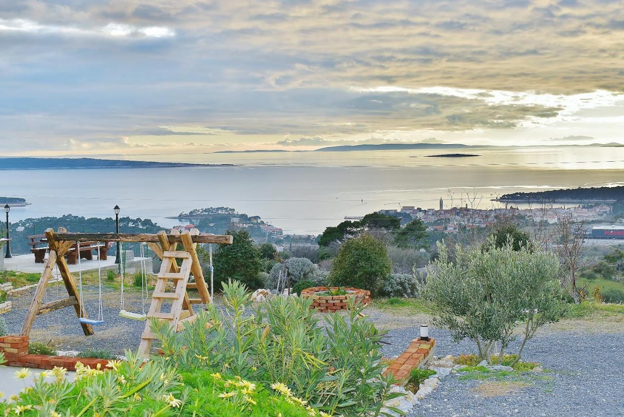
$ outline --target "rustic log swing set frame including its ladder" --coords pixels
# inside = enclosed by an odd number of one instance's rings
[[[79,318],[84,334],[86,336],[94,334],[93,327],[90,324],[94,320],[87,319],[87,311],[80,300],[79,290],[76,288],[64,257],[67,250],[74,246],[76,242],[147,242],[150,249],[162,260],[154,292],[152,292],[152,301],[147,312],[147,319],[154,317],[167,322],[179,332],[185,325],[197,319],[197,315],[193,312],[193,304],[209,304],[211,301],[208,286],[203,277],[202,267],[197,257],[197,251],[195,251],[197,244],[232,244],[233,241],[232,236],[200,234],[197,229],[186,230],[182,234],[177,229],[172,229],[168,234],[165,231],[160,231],[157,234],[127,234],[68,233],[66,229],[59,228],[57,233],[53,229],[47,229],[46,239],[49,247],[49,256],[44,265],[39,284],[37,284],[28,314],[26,319],[24,319],[24,324],[22,324],[21,336],[30,334],[32,323],[37,315],[69,307],[70,305],[76,310],[76,315]],[[178,250],[178,244],[182,244],[182,249]],[[177,259],[181,259],[180,266],[178,266]],[[69,297],[42,304],[55,264],[61,274]],[[194,282],[188,282],[191,275],[194,278]],[[172,291],[167,290],[167,284],[171,284]],[[199,298],[190,298],[187,293],[188,289],[197,290]],[[168,304],[165,300],[171,300],[171,304]],[[161,311],[163,306],[167,310],[167,305],[171,306],[170,311]],[[156,335],[150,330],[150,320],[147,320],[145,330],[141,335],[140,355],[149,355],[152,340],[155,338],[157,338]]]

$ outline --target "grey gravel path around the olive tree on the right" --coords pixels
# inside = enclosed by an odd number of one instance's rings
[[[418,332],[418,327],[391,330],[392,345],[384,347],[384,354],[399,355]],[[430,332],[437,341],[437,356],[475,350],[469,342],[452,342],[444,330]],[[624,416],[624,333],[537,335],[523,356],[550,370],[541,374],[548,379],[489,396],[475,390],[487,381],[460,381],[451,374],[409,416]]]

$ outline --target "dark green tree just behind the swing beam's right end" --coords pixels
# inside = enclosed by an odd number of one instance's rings
[[[215,284],[220,289],[222,282],[231,279],[239,280],[251,290],[263,287],[260,251],[254,246],[248,232],[228,230],[227,234],[234,237],[232,244],[218,244],[213,254]]]

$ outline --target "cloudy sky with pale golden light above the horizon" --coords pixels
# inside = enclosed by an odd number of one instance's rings
[[[0,155],[624,143],[620,0],[0,0]]]

